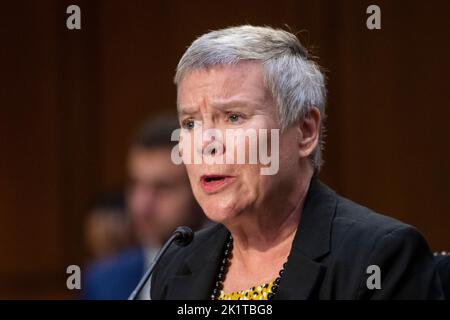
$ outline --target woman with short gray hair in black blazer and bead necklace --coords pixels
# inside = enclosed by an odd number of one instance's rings
[[[217,224],[160,261],[153,299],[442,297],[416,229],[319,181],[325,80],[293,34],[249,25],[209,32],[183,55],[175,83],[179,154]],[[229,132],[255,134],[236,142],[224,139]],[[244,162],[222,161],[239,147],[249,151]],[[258,148],[270,149],[276,172],[249,160]]]

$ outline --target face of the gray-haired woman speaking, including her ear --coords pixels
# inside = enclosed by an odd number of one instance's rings
[[[227,129],[269,129],[269,132],[280,129],[273,98],[263,79],[262,65],[255,62],[189,72],[178,87],[178,112],[184,128],[180,142],[183,157],[189,148],[186,141],[195,140],[193,128],[199,124],[203,130],[219,130],[222,137],[226,137]],[[295,128],[280,134],[279,171],[275,175],[261,175],[259,162],[187,164],[192,190],[208,218],[223,223],[244,211],[276,209],[281,193],[291,191],[290,181],[298,174],[296,134]],[[257,139],[259,145],[259,136]],[[203,149],[211,143],[201,140]],[[238,144],[230,146],[225,140],[221,141],[221,152],[236,154]],[[246,150],[248,142],[246,139]],[[203,151],[197,149],[191,144],[192,154]]]

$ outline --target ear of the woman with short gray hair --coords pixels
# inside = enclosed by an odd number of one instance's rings
[[[320,111],[312,107],[298,124],[298,147],[301,158],[308,157],[319,143]]]

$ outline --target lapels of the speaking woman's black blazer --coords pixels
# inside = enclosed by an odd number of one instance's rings
[[[326,270],[316,260],[330,250],[335,207],[334,191],[317,178],[312,178],[276,299],[303,300],[314,297],[315,289]],[[168,299],[210,298],[229,234],[223,225],[213,228],[215,230],[212,230],[211,236],[187,257],[187,272],[169,280]]]

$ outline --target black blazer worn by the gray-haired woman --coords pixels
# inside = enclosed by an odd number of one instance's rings
[[[152,299],[210,299],[228,233],[217,224],[168,251],[153,273]],[[380,267],[380,290],[367,288],[369,265]],[[415,228],[313,178],[275,299],[442,299],[435,268]]]

